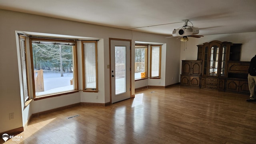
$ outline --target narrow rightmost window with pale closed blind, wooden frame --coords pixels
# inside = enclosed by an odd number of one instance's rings
[[[150,78],[160,78],[161,45],[150,46]]]

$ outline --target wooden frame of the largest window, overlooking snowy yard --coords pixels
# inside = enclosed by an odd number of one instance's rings
[[[35,90],[35,82],[34,82],[34,62],[33,62],[33,48],[32,48],[32,41],[46,41],[46,42],[72,42],[74,43],[73,46],[73,85],[74,89],[65,91],[65,92],[56,92],[54,94],[45,94],[42,96],[36,96],[36,90]],[[50,97],[55,97],[55,96],[62,96],[65,94],[72,94],[75,92],[79,92],[78,90],[78,55],[77,55],[77,42],[75,40],[60,40],[56,38],[30,38],[29,39],[29,44],[30,44],[30,62],[31,62],[31,77],[32,77],[32,88],[33,88],[33,99],[34,100],[40,100],[44,98],[50,98]]]

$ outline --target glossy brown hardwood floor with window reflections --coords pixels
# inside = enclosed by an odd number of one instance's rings
[[[256,102],[248,97],[179,85],[137,90],[110,106],[39,115],[17,136],[24,144],[255,144]]]

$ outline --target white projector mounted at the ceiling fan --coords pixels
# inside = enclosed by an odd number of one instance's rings
[[[172,36],[190,36],[194,34],[199,34],[199,28],[178,28],[172,31]]]

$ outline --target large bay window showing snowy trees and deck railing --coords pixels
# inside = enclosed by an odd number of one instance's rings
[[[77,90],[76,41],[30,38],[34,98]]]

